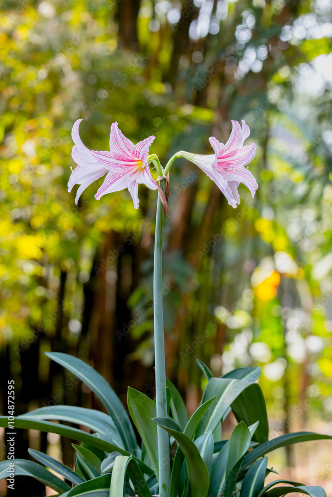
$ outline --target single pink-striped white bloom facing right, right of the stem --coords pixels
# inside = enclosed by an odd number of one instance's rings
[[[242,129],[237,121],[232,121],[233,129],[226,143],[220,143],[217,138],[211,137],[210,143],[215,151],[211,155],[198,155],[183,152],[183,157],[199,166],[221,189],[228,200],[228,204],[236,208],[240,203],[237,188],[243,183],[255,195],[258,188],[252,173],[245,167],[255,157],[256,145],[243,146],[243,142],[250,135],[249,126],[242,121]]]

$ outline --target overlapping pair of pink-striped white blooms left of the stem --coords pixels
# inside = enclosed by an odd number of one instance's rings
[[[106,193],[128,188],[135,209],[138,209],[138,183],[144,183],[148,188],[156,190],[157,183],[152,179],[147,157],[149,147],[154,136],[149,136],[134,145],[117,127],[117,122],[111,125],[110,152],[89,150],[79,135],[78,119],[72,129],[72,138],[75,143],[72,157],[77,164],[68,181],[68,191],[75,184],[81,185],[76,194],[77,204],[82,192],[96,179],[107,173],[102,186],[98,189],[95,198],[99,200]]]

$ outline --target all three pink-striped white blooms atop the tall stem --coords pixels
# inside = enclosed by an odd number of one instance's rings
[[[72,157],[77,167],[72,172],[68,191],[75,184],[79,184],[76,204],[82,192],[96,179],[106,174],[102,186],[95,197],[99,200],[106,193],[120,191],[128,188],[135,209],[138,208],[138,184],[144,183],[148,188],[158,188],[157,182],[152,178],[149,169],[149,147],[154,136],[134,145],[118,129],[117,123],[111,125],[110,152],[89,150],[82,142],[79,135],[79,124],[82,119],[75,122],[72,138],[75,143]],[[232,121],[232,132],[227,143],[220,143],[217,138],[211,137],[210,143],[214,154],[199,155],[189,152],[178,152],[176,157],[184,157],[200,167],[221,189],[228,204],[236,207],[240,203],[238,186],[243,183],[250,190],[252,197],[258,188],[257,182],[246,166],[253,160],[256,145],[243,145],[250,134],[249,127],[242,121],[242,127],[237,121]],[[152,156],[150,156],[152,158]],[[156,157],[156,156],[153,156]]]

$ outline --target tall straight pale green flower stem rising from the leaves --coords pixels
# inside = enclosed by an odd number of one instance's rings
[[[165,191],[166,181],[160,181],[160,187]],[[153,321],[154,321],[154,352],[156,374],[156,407],[157,417],[167,417],[166,402],[166,371],[165,371],[165,345],[164,321],[162,300],[162,233],[164,221],[164,206],[158,195],[156,230],[154,239],[154,266],[153,266]],[[158,457],[159,457],[159,494],[160,497],[168,496],[170,482],[170,457],[169,436],[161,426],[157,427]]]

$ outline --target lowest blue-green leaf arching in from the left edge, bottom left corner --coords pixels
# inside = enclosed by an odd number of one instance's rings
[[[16,423],[16,422],[15,422]],[[0,462],[0,480],[2,478],[8,478],[9,472],[7,471],[11,466],[9,466],[9,460],[5,460]],[[56,475],[53,475],[50,471],[48,471],[44,466],[37,464],[33,461],[27,461],[25,459],[15,459],[15,477],[16,476],[31,476],[35,480],[43,483],[47,487],[55,490],[59,493],[59,495],[64,494],[70,490],[69,485],[65,483],[61,478]]]

